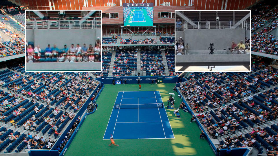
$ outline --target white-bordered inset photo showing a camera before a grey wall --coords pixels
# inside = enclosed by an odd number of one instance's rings
[[[250,10],[175,11],[175,71],[250,71]]]

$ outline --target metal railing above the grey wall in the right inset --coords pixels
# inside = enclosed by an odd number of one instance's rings
[[[232,29],[232,27],[239,21],[193,21],[195,26],[189,24],[185,21],[183,28],[184,29]],[[250,29],[250,24],[246,21],[241,22],[236,29],[243,29],[248,27]],[[246,28],[247,29],[247,28]],[[178,28],[182,30],[182,28]]]

